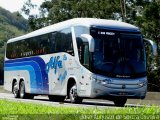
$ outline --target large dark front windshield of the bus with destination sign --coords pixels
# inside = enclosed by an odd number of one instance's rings
[[[111,77],[141,77],[146,75],[146,59],[140,33],[92,29],[95,40],[92,69]]]

